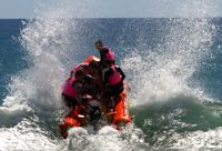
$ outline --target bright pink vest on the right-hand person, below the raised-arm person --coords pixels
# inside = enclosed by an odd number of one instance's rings
[[[115,66],[112,66],[111,69],[113,73],[112,76],[108,78],[108,82],[110,85],[114,85],[114,84],[118,84],[122,80],[122,76],[120,74],[120,72],[117,71]]]

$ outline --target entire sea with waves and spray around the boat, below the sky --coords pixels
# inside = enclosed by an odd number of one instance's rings
[[[221,24],[221,18],[0,20],[0,150],[222,150]],[[73,129],[63,140],[61,84],[74,64],[99,56],[98,39],[127,74],[133,122],[122,132]]]

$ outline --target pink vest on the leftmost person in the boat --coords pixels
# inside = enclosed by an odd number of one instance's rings
[[[75,98],[77,91],[72,87],[72,83],[75,81],[74,77],[67,79],[65,83],[63,84],[62,93],[72,98]]]

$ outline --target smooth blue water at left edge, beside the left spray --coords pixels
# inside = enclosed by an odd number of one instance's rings
[[[26,51],[18,37],[22,22],[18,20],[0,20],[0,102],[8,94],[8,84],[12,76],[27,67]]]

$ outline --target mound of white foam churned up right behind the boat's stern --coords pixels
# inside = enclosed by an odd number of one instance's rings
[[[103,127],[97,134],[90,134],[82,128],[70,130],[70,135],[61,150],[97,150],[97,151],[124,151],[137,150],[137,145],[143,143],[142,132],[128,127],[123,131],[118,131],[111,127]]]

